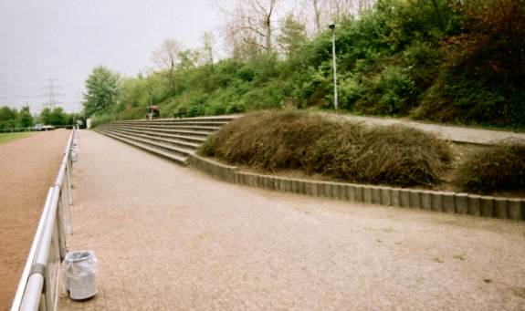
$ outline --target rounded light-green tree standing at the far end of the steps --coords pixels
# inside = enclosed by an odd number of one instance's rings
[[[84,93],[84,112],[87,117],[93,114],[110,112],[116,104],[119,93],[119,75],[107,67],[95,67],[86,80]]]

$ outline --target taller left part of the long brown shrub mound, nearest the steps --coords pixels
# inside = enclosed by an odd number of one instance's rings
[[[207,155],[266,171],[303,167],[311,146],[341,125],[299,111],[257,111],[236,119],[207,141]]]

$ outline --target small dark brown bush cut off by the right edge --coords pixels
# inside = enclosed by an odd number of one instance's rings
[[[466,192],[488,194],[525,187],[525,142],[503,142],[472,154],[454,181]]]

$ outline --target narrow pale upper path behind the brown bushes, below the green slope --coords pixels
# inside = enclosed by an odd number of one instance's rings
[[[331,116],[334,115],[331,114]],[[337,118],[351,119],[354,121],[363,122],[364,124],[372,125],[403,124],[405,126],[413,127],[419,130],[433,132],[445,138],[446,140],[453,140],[457,142],[490,144],[499,140],[525,141],[525,133],[517,133],[505,130],[482,130],[476,128],[417,122],[409,119],[361,117],[346,114],[337,115]]]

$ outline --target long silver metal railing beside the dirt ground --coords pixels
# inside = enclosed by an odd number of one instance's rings
[[[69,135],[55,184],[47,192],[46,204],[31,244],[26,266],[16,289],[11,311],[56,310],[60,263],[67,253],[66,233],[71,233],[69,206],[72,161],[76,159],[77,129]]]

